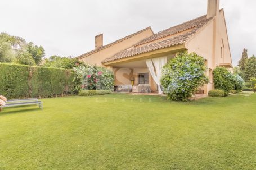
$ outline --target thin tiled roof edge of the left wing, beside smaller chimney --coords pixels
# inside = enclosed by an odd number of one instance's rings
[[[84,58],[84,57],[86,57],[86,56],[89,56],[89,55],[91,55],[91,54],[93,54],[93,53],[96,53],[96,52],[102,50],[102,49],[105,49],[105,48],[107,48],[107,47],[110,47],[111,45],[114,45],[114,44],[116,44],[116,43],[122,42],[122,41],[125,40],[125,39],[131,38],[131,37],[134,36],[134,35],[140,34],[140,33],[142,33],[143,31],[146,31],[146,30],[148,30],[148,29],[151,29],[151,27],[150,27],[150,26],[149,26],[149,27],[146,27],[146,28],[143,29],[143,30],[140,30],[140,31],[137,31],[136,33],[133,33],[133,34],[128,35],[128,36],[125,36],[124,38],[121,38],[121,39],[119,39],[119,40],[116,40],[115,42],[112,42],[112,43],[110,43],[110,44],[104,45],[104,46],[102,46],[101,48],[91,50],[91,51],[89,51],[89,52],[87,52],[87,53],[84,53],[84,54],[82,54],[82,55],[80,55],[80,56],[78,56],[78,57],[76,57],[76,58],[79,58],[79,59],[80,59],[80,58]],[[152,32],[153,32],[153,31],[152,31]]]

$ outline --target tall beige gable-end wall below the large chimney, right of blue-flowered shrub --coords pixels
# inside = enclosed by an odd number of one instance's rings
[[[210,21],[190,39],[186,44],[186,48],[189,53],[195,52],[207,60],[208,71],[206,75],[208,75],[210,81],[203,89],[208,93],[209,90],[213,89],[212,70],[221,63],[231,63],[232,65],[224,11],[221,10],[218,17],[215,17],[214,20]]]

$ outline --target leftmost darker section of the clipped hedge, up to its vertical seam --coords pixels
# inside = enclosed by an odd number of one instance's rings
[[[29,97],[29,66],[0,63],[0,94],[7,99]]]

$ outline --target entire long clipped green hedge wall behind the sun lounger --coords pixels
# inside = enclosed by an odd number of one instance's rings
[[[72,70],[0,63],[0,94],[8,99],[73,94]]]

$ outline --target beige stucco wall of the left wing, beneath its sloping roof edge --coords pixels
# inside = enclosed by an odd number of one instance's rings
[[[131,38],[125,39],[122,42],[111,45],[108,48],[102,49],[102,50],[100,50],[94,54],[91,54],[90,56],[84,57],[80,60],[84,61],[86,63],[92,64],[92,65],[104,66],[104,65],[102,65],[101,62],[105,58],[109,58],[109,57],[113,56],[114,54],[120,52],[121,50],[131,47],[132,45],[138,43],[140,40],[145,39],[145,38],[151,36],[152,34],[153,34],[152,30],[147,29],[137,35],[132,36]]]

